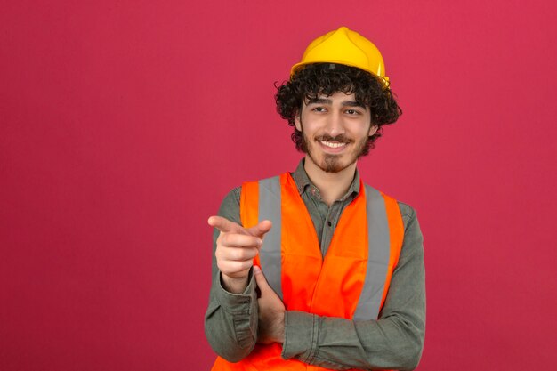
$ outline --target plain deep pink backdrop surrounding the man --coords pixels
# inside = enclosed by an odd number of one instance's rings
[[[273,83],[341,25],[404,109],[359,168],[422,224],[418,369],[557,363],[553,1],[1,9],[0,369],[210,367],[206,218],[295,168]]]

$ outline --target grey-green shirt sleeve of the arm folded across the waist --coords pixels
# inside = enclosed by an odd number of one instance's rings
[[[400,259],[377,320],[287,311],[282,357],[337,370],[416,368],[424,346],[424,239],[416,212],[399,203],[405,225]]]

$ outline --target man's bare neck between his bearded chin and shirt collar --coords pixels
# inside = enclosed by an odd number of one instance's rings
[[[328,206],[333,205],[337,199],[346,194],[356,173],[355,162],[338,173],[327,173],[316,165],[309,156],[305,157],[303,168]]]

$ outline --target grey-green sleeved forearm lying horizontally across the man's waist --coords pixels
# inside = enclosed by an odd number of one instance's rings
[[[282,356],[332,369],[414,369],[423,331],[412,323],[389,319],[353,321],[287,312]]]

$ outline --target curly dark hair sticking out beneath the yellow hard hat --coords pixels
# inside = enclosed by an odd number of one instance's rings
[[[319,94],[332,95],[336,92],[354,93],[356,101],[370,109],[371,124],[378,126],[362,151],[362,156],[365,156],[383,134],[382,126],[396,122],[402,114],[389,83],[383,77],[343,64],[307,64],[298,69],[289,81],[277,86],[277,112],[295,128],[295,117],[302,109],[303,101],[316,99]],[[295,128],[291,138],[296,149],[306,151],[302,132]]]

